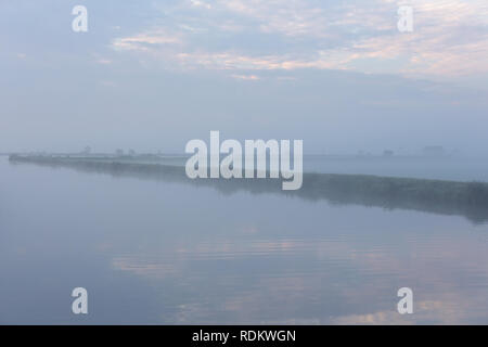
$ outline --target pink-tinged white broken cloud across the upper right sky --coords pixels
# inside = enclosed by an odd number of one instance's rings
[[[400,4],[217,0],[210,5],[191,0],[159,8],[165,21],[111,46],[183,69],[318,68],[441,77],[488,73],[485,0],[409,1],[413,33],[397,29]]]

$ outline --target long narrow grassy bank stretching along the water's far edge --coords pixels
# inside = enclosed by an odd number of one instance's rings
[[[388,209],[401,208],[442,215],[464,216],[473,222],[488,221],[488,183],[377,177],[367,175],[304,174],[298,191],[282,191],[277,179],[196,179],[184,167],[117,162],[116,158],[10,156],[11,163],[33,163],[69,167],[114,177],[155,179],[213,187],[222,193],[245,190],[277,193],[306,200],[326,200],[331,204],[358,204]]]

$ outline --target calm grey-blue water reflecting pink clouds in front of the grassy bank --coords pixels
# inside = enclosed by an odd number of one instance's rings
[[[0,323],[488,324],[487,250],[464,217],[0,157]]]

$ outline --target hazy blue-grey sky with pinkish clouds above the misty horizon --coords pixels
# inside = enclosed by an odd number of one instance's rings
[[[0,152],[182,153],[219,130],[485,155],[487,57],[486,0],[0,0]]]

